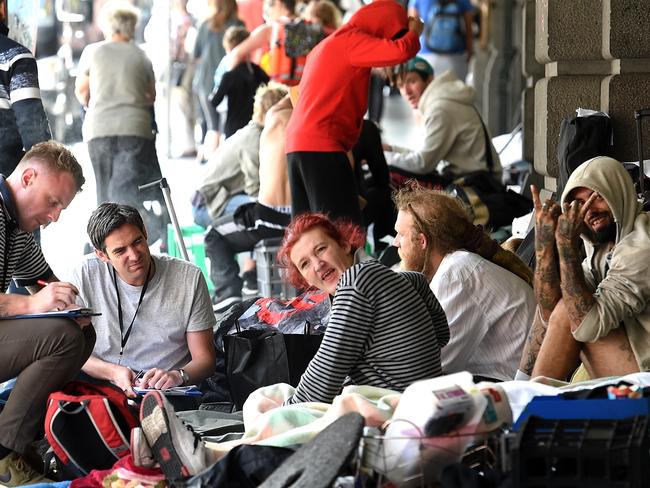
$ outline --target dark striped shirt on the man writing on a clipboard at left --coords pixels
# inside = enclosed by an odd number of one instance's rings
[[[35,285],[52,275],[31,232],[18,228],[11,195],[0,176],[0,285],[6,290],[12,277],[22,286]]]

